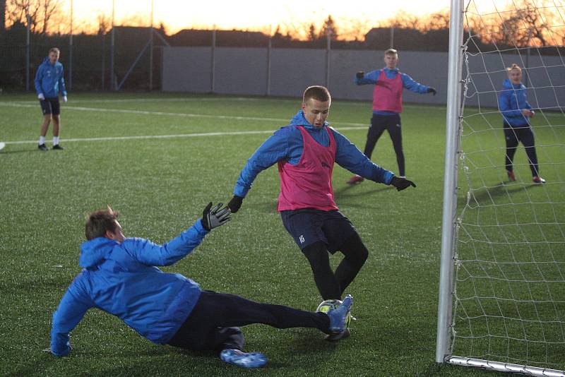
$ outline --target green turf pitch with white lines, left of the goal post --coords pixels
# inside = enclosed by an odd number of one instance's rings
[[[231,198],[251,153],[299,108],[299,100],[274,98],[158,93],[69,98],[62,107],[66,149],[40,152],[42,115],[34,96],[0,97],[0,141],[8,142],[0,151],[0,374],[493,375],[434,361],[445,143],[441,107],[406,106],[403,112],[407,174],[417,188],[398,193],[370,181],[350,187],[345,185],[350,172],[334,169],[338,206],[370,253],[347,289],[355,297],[357,317],[349,339],[334,345],[317,330],[251,325],[244,329],[246,350],[264,352],[270,361],[261,371],[242,371],[210,354],[153,345],[117,318],[91,310],[71,333],[70,357],[42,352],[49,347],[52,312],[80,271],[85,213],[112,205],[121,212],[126,236],[168,241],[192,225],[208,201]],[[338,129],[357,127],[343,133],[362,148],[369,117],[367,102],[336,101],[328,120]],[[499,119],[493,117],[495,122]],[[244,131],[264,133],[112,139]],[[549,137],[542,133],[538,140]],[[88,138],[109,139],[81,140]],[[386,134],[373,160],[397,170]],[[522,149],[516,162],[525,164]],[[518,171],[525,178],[526,169]],[[493,186],[500,184],[504,169],[484,172],[487,186]],[[562,166],[547,172],[548,181],[565,175]],[[559,190],[557,185],[528,188],[562,198]],[[209,234],[191,256],[163,269],[191,277],[204,289],[315,309],[321,299],[306,259],[276,213],[277,196],[278,174],[272,167],[258,176],[229,225]],[[334,265],[338,261],[339,254],[332,258]]]

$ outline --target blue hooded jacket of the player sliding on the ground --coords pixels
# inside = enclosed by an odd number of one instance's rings
[[[85,241],[79,259],[83,270],[53,313],[53,354],[69,354],[69,332],[90,308],[117,316],[152,342],[167,343],[194,309],[201,289],[183,275],[164,273],[155,265],[179,261],[206,234],[197,220],[162,246],[141,238],[128,238],[121,244],[105,237]]]

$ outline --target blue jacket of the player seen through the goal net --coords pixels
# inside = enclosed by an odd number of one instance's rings
[[[513,84],[509,78],[502,83],[499,93],[499,110],[506,123],[512,127],[529,127],[528,116],[522,114],[523,109],[531,109],[528,103],[528,88],[523,83]]]

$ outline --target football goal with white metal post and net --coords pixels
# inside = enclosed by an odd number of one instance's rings
[[[451,0],[438,363],[565,376],[564,44],[564,0]]]

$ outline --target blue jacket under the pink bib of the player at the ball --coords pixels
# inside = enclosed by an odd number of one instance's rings
[[[321,127],[313,126],[304,118],[304,112],[300,110],[291,119],[288,126],[275,131],[273,136],[270,136],[247,160],[235,184],[234,195],[245,198],[257,174],[280,160],[285,160],[293,165],[298,164],[304,148],[304,140],[302,140],[302,133],[297,128],[298,126],[304,126],[304,129],[320,145],[324,147],[330,145],[330,138],[324,129],[328,127],[328,122]],[[392,172],[371,162],[350,140],[333,128],[330,129],[335,139],[335,162],[350,172],[364,176],[371,181],[391,184],[394,176]]]

